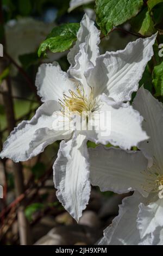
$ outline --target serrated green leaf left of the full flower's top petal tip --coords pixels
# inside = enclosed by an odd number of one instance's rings
[[[46,50],[51,52],[64,52],[70,48],[74,41],[77,40],[77,32],[79,30],[79,23],[68,23],[53,28],[52,32],[43,41],[38,50],[38,56]]]

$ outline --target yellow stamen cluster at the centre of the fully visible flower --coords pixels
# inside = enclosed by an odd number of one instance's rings
[[[90,88],[90,95],[86,97],[82,85],[77,86],[76,92],[69,90],[70,95],[64,94],[64,99],[59,100],[62,113],[75,113],[82,115],[83,112],[92,112],[96,100],[93,99],[93,89]]]

